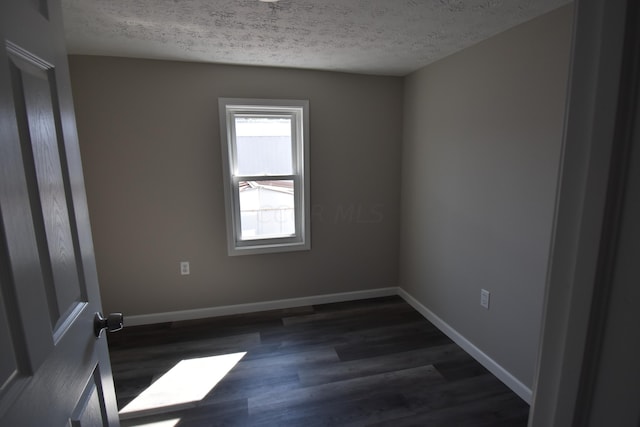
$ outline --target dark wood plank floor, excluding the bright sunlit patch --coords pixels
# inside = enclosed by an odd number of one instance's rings
[[[399,297],[125,327],[109,345],[119,408],[182,360],[246,352],[201,400],[123,426],[516,427],[529,413]]]

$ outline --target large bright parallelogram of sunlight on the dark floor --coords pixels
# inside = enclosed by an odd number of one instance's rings
[[[245,354],[247,353],[241,352],[182,360],[119,413],[129,414],[200,401]]]

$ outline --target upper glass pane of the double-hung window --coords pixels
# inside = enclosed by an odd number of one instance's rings
[[[238,175],[292,175],[291,119],[236,117]]]

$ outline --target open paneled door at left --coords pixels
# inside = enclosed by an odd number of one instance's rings
[[[0,425],[117,426],[59,1],[0,40]]]

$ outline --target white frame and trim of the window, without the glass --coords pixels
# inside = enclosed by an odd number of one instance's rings
[[[309,195],[309,101],[281,99],[219,98],[220,140],[224,181],[227,249],[230,256],[311,249]],[[237,174],[235,117],[237,115],[287,116],[292,123],[291,175],[241,176]],[[240,223],[241,181],[292,180],[295,232],[276,238],[242,239]]]

